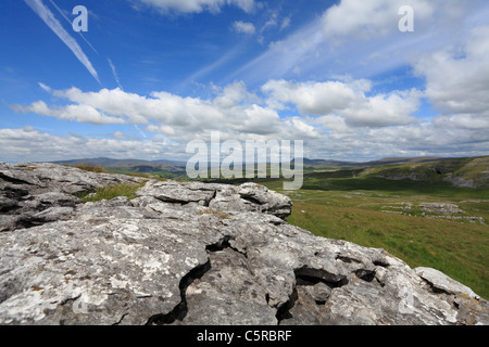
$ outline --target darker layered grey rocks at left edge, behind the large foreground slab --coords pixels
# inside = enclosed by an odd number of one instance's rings
[[[54,164],[0,163],[1,231],[13,231],[66,219],[66,209],[82,202],[74,193],[86,193],[117,183],[139,183],[142,178],[123,175],[96,174]],[[50,209],[46,214],[43,210]],[[5,217],[5,215],[8,217]],[[16,216],[16,217],[12,217]]]

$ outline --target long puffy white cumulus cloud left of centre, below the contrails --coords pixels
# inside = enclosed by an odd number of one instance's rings
[[[45,86],[45,90],[51,90]],[[78,88],[52,90],[53,97],[65,105],[48,105],[43,101],[30,105],[11,105],[21,113],[35,113],[96,125],[142,125],[152,133],[163,133],[175,140],[190,140],[196,133],[220,130],[229,137],[273,136],[284,133],[309,137],[312,130],[294,129],[271,107],[260,104],[260,98],[249,92],[243,82],[236,81],[225,88],[215,88],[213,99],[184,98],[166,91],[149,97],[115,89],[84,92]]]

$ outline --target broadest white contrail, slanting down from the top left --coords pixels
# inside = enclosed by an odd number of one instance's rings
[[[42,0],[24,0],[25,3],[49,26],[51,30],[66,44],[78,61],[85,65],[88,72],[100,83],[99,75],[84,53],[78,42],[61,26],[52,12],[42,3]]]

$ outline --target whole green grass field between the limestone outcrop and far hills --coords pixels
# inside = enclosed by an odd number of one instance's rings
[[[356,174],[306,175],[303,188],[290,192],[281,191],[280,181],[261,184],[290,196],[293,208],[287,220],[291,224],[318,236],[385,248],[412,268],[438,269],[489,298],[488,189]],[[444,215],[419,206],[429,203],[450,203],[463,213]]]

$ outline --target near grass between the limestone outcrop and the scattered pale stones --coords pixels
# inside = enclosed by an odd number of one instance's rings
[[[288,221],[319,236],[385,248],[412,268],[436,268],[489,297],[487,226],[386,214],[359,206],[378,200],[356,200],[356,206],[350,200],[293,200]]]

